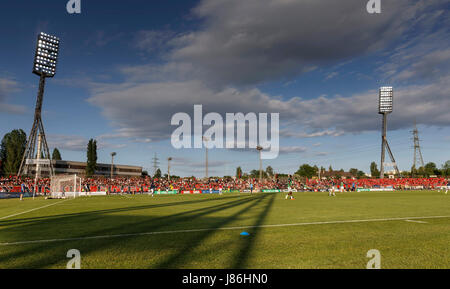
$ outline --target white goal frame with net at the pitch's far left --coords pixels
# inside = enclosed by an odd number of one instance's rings
[[[81,192],[81,178],[77,175],[57,175],[50,179],[52,198],[78,197]]]

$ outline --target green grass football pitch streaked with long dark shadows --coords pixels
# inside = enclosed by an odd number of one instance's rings
[[[371,249],[381,268],[450,268],[450,195],[284,196],[0,200],[0,268],[63,269],[70,249],[82,269],[364,269]]]

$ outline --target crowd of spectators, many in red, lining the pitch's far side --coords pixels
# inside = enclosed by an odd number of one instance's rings
[[[22,186],[24,185],[24,186]],[[93,177],[82,179],[81,190],[106,191],[108,193],[136,193],[148,192],[151,188],[161,191],[201,191],[201,190],[237,190],[244,191],[253,188],[260,190],[283,190],[291,187],[297,191],[325,191],[334,186],[336,189],[352,191],[358,188],[392,187],[396,190],[404,189],[435,189],[450,186],[445,178],[395,178],[395,179],[295,179],[271,178],[239,179],[239,178],[210,178],[209,180],[196,178],[167,178],[152,177]],[[27,192],[50,192],[50,179],[42,178],[35,183],[34,178],[0,177],[0,192],[20,192],[24,187]]]

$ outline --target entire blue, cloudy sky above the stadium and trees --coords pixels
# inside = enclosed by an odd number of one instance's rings
[[[38,76],[36,38],[61,39],[43,122],[50,150],[85,161],[204,176],[205,149],[175,149],[179,112],[279,113],[278,173],[301,164],[367,173],[379,165],[378,89],[394,87],[388,141],[400,170],[413,164],[417,123],[424,161],[450,159],[450,4],[444,0],[66,0],[0,3],[0,137],[29,133]],[[208,127],[205,126],[204,129]],[[208,152],[209,175],[259,167],[255,149]]]

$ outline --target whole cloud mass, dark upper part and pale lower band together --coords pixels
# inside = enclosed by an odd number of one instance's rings
[[[434,14],[427,9],[436,3],[443,1],[390,1],[383,3],[383,13],[370,15],[360,0],[202,1],[194,10],[194,15],[205,21],[200,30],[168,40],[159,39],[156,31],[141,32],[146,36],[139,43],[142,50],[170,42],[172,50],[163,58],[165,63],[122,67],[123,83],[90,82],[89,102],[100,107],[118,128],[104,138],[168,139],[174,129],[170,126],[172,115],[192,115],[195,104],[203,105],[204,114],[280,113],[283,137],[379,130],[376,90],[283,100],[248,85],[383,51],[397,37],[410,33],[411,25],[430,27],[440,19],[439,15],[428,17]],[[448,36],[442,29],[436,33],[434,37]],[[448,50],[433,46],[433,38],[427,39],[426,44],[411,40],[394,46],[392,52],[389,49],[386,57],[392,61],[379,71],[383,75],[407,71],[404,65],[411,63],[410,56],[421,56],[422,62],[411,64],[414,69],[410,71],[417,76],[430,71],[433,63],[448,63]],[[414,119],[425,125],[450,125],[448,72],[446,66],[440,66],[439,77],[428,82],[395,86],[390,129],[408,128]],[[412,76],[404,72],[398,77]]]

